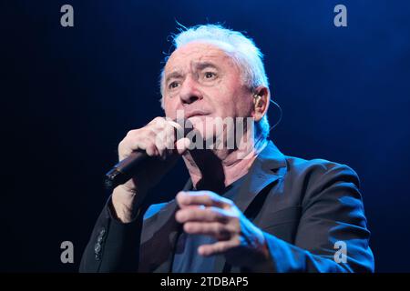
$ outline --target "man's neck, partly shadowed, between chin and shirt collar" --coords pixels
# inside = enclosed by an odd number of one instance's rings
[[[196,149],[183,156],[190,172],[192,185],[196,189],[218,192],[245,176],[255,158],[266,146],[267,141],[255,142],[254,138],[235,149]]]

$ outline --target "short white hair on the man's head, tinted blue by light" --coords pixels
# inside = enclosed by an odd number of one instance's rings
[[[251,38],[233,31],[221,25],[196,25],[179,29],[179,34],[172,35],[174,50],[194,41],[207,42],[217,45],[231,55],[232,60],[241,68],[241,77],[244,85],[251,90],[263,85],[269,87],[268,77],[263,65],[263,55],[261,50],[254,44]],[[166,60],[169,56],[167,56]],[[164,108],[164,73],[165,66],[160,74],[161,106]],[[267,115],[255,123],[255,133],[261,139],[266,139],[269,135],[270,125]]]

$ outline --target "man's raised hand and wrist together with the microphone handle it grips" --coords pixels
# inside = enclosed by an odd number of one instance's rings
[[[156,186],[178,157],[188,150],[190,139],[183,137],[187,133],[184,125],[185,122],[180,125],[156,117],[148,125],[129,131],[119,143],[120,162],[107,177],[108,184],[114,188],[114,210],[122,222],[132,219],[136,202],[144,199],[149,189]]]

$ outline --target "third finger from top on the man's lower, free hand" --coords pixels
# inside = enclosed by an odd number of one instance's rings
[[[229,229],[219,222],[187,222],[184,224],[184,231],[191,235],[213,236],[218,240],[231,238]]]

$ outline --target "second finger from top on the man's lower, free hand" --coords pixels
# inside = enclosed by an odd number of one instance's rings
[[[175,219],[181,224],[189,221],[225,223],[229,218],[230,216],[218,207],[186,207],[179,209],[175,214]]]

